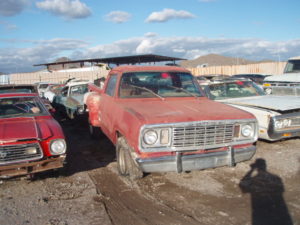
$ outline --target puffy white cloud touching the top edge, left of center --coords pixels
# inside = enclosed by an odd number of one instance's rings
[[[86,18],[91,15],[91,10],[80,0],[44,0],[37,2],[36,6],[67,19]]]

